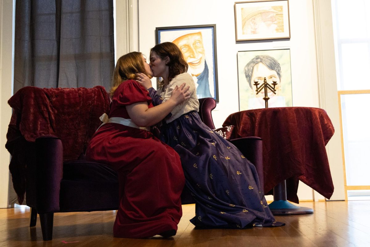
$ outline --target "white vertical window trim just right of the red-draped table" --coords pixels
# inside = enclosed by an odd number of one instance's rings
[[[334,183],[330,200],[344,200],[342,140],[340,137],[339,104],[337,95],[331,0],[313,0],[316,30],[316,54],[320,92],[320,108],[327,111],[336,130],[326,150]]]

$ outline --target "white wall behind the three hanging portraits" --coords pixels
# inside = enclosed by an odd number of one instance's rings
[[[212,112],[216,127],[221,127],[229,114],[239,111],[238,51],[289,48],[293,106],[319,107],[312,0],[289,1],[290,40],[256,42],[235,41],[234,3],[234,0],[139,0],[138,49],[149,54],[155,45],[156,27],[216,24],[219,103]],[[312,200],[312,189],[300,183],[298,196],[301,200]]]

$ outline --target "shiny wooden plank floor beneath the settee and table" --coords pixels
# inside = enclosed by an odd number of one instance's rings
[[[54,214],[53,240],[43,241],[40,219],[29,227],[29,208],[0,208],[0,246],[370,246],[370,201],[303,202],[313,214],[278,216],[286,226],[245,230],[197,230],[189,222],[194,204],[184,205],[176,236],[114,238],[115,211]],[[66,245],[68,244],[68,245]]]

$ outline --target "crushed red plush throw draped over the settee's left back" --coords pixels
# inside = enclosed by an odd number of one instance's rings
[[[37,137],[56,136],[63,143],[63,159],[77,159],[109,111],[110,97],[104,87],[92,89],[41,89],[23,87],[8,101],[13,108],[6,148],[12,155],[9,170],[18,201],[26,190],[26,165],[33,159]]]

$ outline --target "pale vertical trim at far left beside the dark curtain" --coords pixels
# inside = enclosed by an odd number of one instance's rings
[[[12,96],[13,1],[0,0],[0,208],[8,207],[10,154],[5,148]]]

